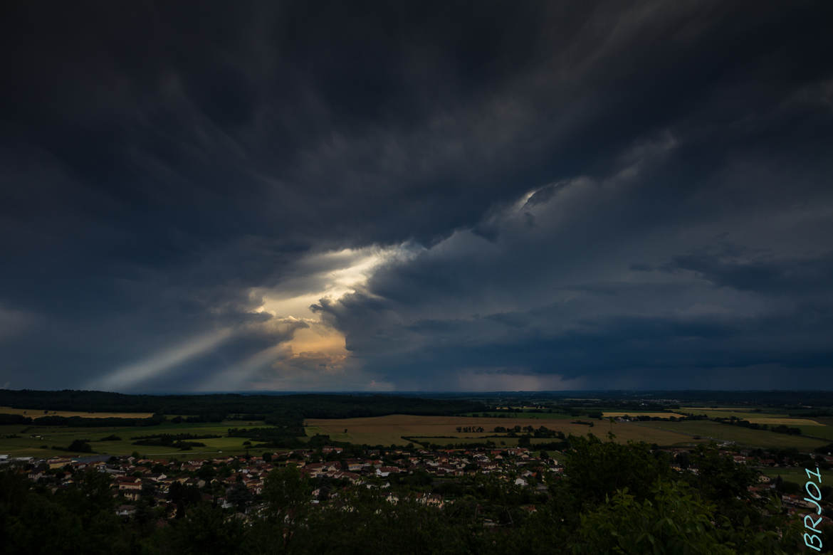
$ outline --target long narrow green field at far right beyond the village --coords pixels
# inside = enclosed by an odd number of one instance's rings
[[[795,447],[813,449],[826,444],[820,439],[803,438],[797,435],[776,434],[767,430],[749,429],[741,426],[730,426],[708,420],[688,422],[640,422],[636,426],[652,429],[663,429],[680,434],[699,435],[703,439],[716,441],[734,441],[737,444],[750,447]]]

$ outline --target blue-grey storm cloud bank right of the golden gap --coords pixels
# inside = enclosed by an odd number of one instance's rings
[[[404,389],[506,384],[496,374],[742,388],[786,387],[801,373],[826,386],[831,191],[798,166],[779,188],[785,160],[757,160],[746,173],[756,180],[731,180],[749,165],[741,154],[667,194],[669,172],[701,146],[665,145],[636,149],[641,158],[612,176],[521,198],[487,216],[491,236],[462,230],[318,310],[357,357],[396,368]]]

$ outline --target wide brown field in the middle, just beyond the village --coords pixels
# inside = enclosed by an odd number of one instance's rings
[[[335,441],[344,441],[354,444],[370,445],[391,445],[407,444],[402,436],[414,437],[423,436],[426,442],[441,444],[446,443],[467,443],[475,439],[483,439],[484,436],[494,435],[492,430],[496,426],[506,427],[506,419],[497,418],[472,418],[464,416],[412,416],[407,414],[392,414],[374,418],[361,419],[307,419],[307,435],[327,434]],[[512,425],[534,426],[542,425],[540,419],[511,419]],[[616,441],[625,443],[629,439],[635,441],[646,441],[661,445],[691,444],[693,439],[690,435],[668,432],[661,429],[646,429],[629,423],[618,423],[612,426],[604,421],[596,420],[593,428],[585,424],[571,424],[568,419],[561,419],[547,424],[549,429],[559,430],[564,434],[585,435],[588,432],[604,439],[608,431],[612,429],[616,434]],[[456,427],[482,426],[485,430],[482,434],[458,433]],[[347,430],[347,431],[345,431]],[[451,439],[441,439],[438,436],[451,436]],[[511,440],[511,438],[492,438],[491,441]],[[546,441],[553,441],[547,439]],[[534,440],[533,440],[534,442]]]

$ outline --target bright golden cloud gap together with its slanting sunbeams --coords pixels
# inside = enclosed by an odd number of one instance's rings
[[[343,374],[349,353],[344,336],[322,322],[320,316],[310,310],[310,305],[324,298],[337,300],[352,293],[366,283],[380,265],[408,256],[409,251],[404,247],[345,249],[309,255],[300,260],[287,279],[278,285],[250,291],[253,298],[262,299],[262,305],[256,311],[272,315],[266,322],[188,339],[115,369],[87,387],[114,391],[135,388],[142,382],[162,377],[189,359],[207,354],[236,334],[252,331],[277,332],[288,339],[279,340],[277,344],[230,364],[227,369],[197,384],[197,389],[290,389],[299,385],[317,389],[317,386],[326,385],[325,379],[347,379]],[[304,325],[299,326],[300,323]],[[358,379],[359,376],[352,377]],[[367,381],[364,385],[373,386]],[[354,387],[362,389],[359,384]]]

